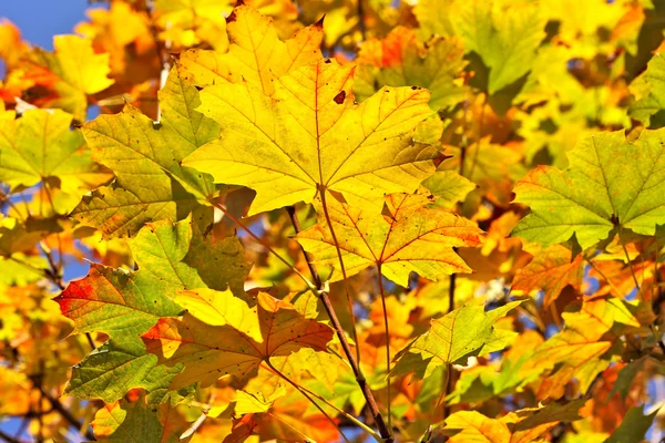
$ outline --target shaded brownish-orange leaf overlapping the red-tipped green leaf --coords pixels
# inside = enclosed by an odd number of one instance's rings
[[[273,356],[288,356],[309,347],[326,350],[332,330],[313,319],[305,319],[295,308],[265,292],[257,298],[258,323],[262,341],[232,326],[213,327],[193,316],[182,320],[162,318],[142,338],[147,350],[168,365],[184,363],[171,389],[200,381],[209,385],[224,375],[245,378],[262,361]]]

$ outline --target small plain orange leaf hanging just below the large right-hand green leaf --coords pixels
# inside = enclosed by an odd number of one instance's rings
[[[518,270],[512,289],[529,293],[535,289],[545,292],[544,306],[548,307],[559,297],[566,285],[580,287],[582,281],[582,256],[573,258],[570,249],[554,245],[533,257],[524,268]]]

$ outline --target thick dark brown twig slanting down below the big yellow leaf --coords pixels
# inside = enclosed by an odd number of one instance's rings
[[[294,225],[294,229],[296,230],[296,234],[300,233],[300,230],[301,230],[300,222],[298,220],[295,209],[293,207],[290,209],[287,208],[287,213],[291,219],[291,224]],[[392,434],[390,433],[389,429],[386,426],[386,423],[383,422],[383,416],[379,412],[379,406],[377,405],[377,401],[374,398],[371,389],[369,388],[369,384],[367,384],[365,374],[362,374],[362,371],[358,364],[358,361],[354,357],[354,352],[351,351],[351,346],[349,344],[349,342],[346,338],[346,334],[344,332],[341,323],[339,322],[339,319],[337,318],[337,313],[335,312],[335,308],[332,307],[332,303],[330,302],[330,297],[328,296],[328,292],[326,292],[325,290],[321,290],[323,284],[321,284],[320,277],[318,275],[318,271],[316,270],[316,267],[311,262],[313,261],[311,256],[307,251],[305,251],[305,249],[303,249],[301,246],[300,246],[300,249],[303,250],[303,254],[305,255],[305,259],[307,260],[307,266],[309,267],[309,270],[311,271],[314,279],[317,281],[316,293],[318,295],[319,299],[321,300],[321,303],[324,305],[324,309],[328,313],[328,318],[330,319],[330,322],[332,323],[332,328],[335,329],[337,338],[339,339],[341,349],[344,350],[344,353],[345,353],[347,360],[349,361],[349,364],[351,365],[354,375],[356,375],[356,382],[360,387],[360,391],[362,392],[362,395],[365,396],[365,400],[366,400],[369,411],[374,418],[374,421],[377,424],[377,427],[379,429],[379,433],[386,443],[392,443],[393,442]],[[356,343],[356,344],[358,344],[358,343]]]

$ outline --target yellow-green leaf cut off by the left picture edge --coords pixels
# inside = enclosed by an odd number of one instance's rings
[[[63,111],[0,112],[0,182],[33,186],[57,185],[65,193],[83,193],[109,182],[112,175],[91,159],[72,116]]]

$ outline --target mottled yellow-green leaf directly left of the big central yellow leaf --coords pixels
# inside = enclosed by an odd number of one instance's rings
[[[145,223],[178,220],[201,209],[215,186],[180,161],[217,138],[219,126],[196,112],[198,105],[198,91],[176,66],[160,91],[160,124],[131,105],[85,124],[83,134],[95,159],[116,179],[85,197],[73,216],[106,236],[120,237],[135,235]]]

